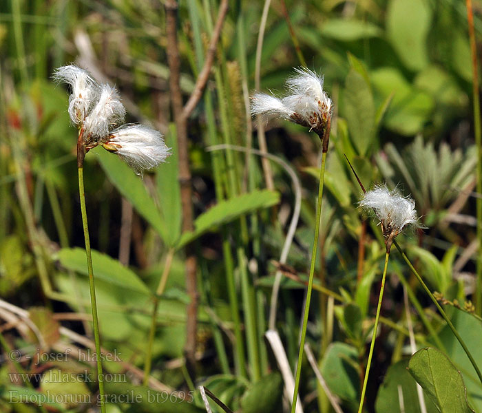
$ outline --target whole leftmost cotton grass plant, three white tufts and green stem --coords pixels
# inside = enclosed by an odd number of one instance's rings
[[[54,72],[54,79],[58,82],[67,83],[70,86],[71,94],[68,112],[72,125],[78,129],[78,192],[81,200],[85,253],[87,255],[87,269],[89,273],[99,403],[101,412],[105,413],[103,369],[100,357],[101,339],[98,328],[94,271],[92,268],[92,253],[85,207],[83,162],[85,154],[90,149],[101,145],[107,151],[116,153],[136,173],[142,175],[146,169],[154,168],[160,162],[164,162],[167,156],[169,156],[169,148],[165,145],[163,136],[154,129],[142,125],[123,125],[119,127],[125,119],[126,111],[115,87],[107,83],[99,85],[89,72],[75,65],[59,67]]]

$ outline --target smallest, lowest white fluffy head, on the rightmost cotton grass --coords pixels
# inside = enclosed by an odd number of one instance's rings
[[[377,185],[364,194],[359,202],[363,209],[375,211],[384,236],[392,240],[408,225],[419,227],[415,201],[404,198],[397,189],[390,191],[385,185]]]

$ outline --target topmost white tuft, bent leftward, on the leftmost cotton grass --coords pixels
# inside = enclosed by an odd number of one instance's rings
[[[69,116],[76,127],[80,127],[98,98],[100,87],[89,72],[74,65],[59,67],[54,72],[54,80],[70,85]]]

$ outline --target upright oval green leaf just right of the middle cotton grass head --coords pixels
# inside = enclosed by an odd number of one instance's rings
[[[350,70],[345,81],[344,117],[353,146],[360,156],[375,149],[375,106],[370,85],[355,69]]]

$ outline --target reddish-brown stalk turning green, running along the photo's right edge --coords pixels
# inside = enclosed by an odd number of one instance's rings
[[[470,50],[472,52],[472,96],[474,99],[474,136],[477,149],[477,193],[482,193],[482,133],[481,133],[481,103],[479,100],[479,67],[477,64],[477,49],[474,33],[474,12],[472,0],[465,1],[469,25]],[[476,260],[476,284],[475,284],[475,312],[482,315],[482,199],[475,200],[477,218],[477,240],[479,240],[479,253]]]

